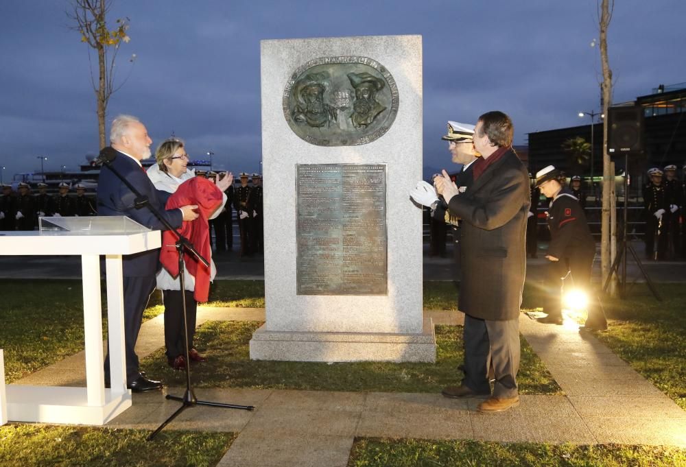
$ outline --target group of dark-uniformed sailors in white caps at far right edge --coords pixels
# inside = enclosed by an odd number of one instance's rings
[[[683,167],[686,176],[686,165]],[[686,183],[676,178],[676,165],[648,170],[643,185],[646,219],[646,257],[663,260],[686,257],[686,229],[683,213]],[[686,179],[686,177],[685,177]]]

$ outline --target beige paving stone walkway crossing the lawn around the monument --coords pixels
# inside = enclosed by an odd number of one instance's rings
[[[462,313],[425,315],[435,324],[462,324]],[[206,320],[264,320],[264,311],[200,307],[198,325]],[[520,329],[564,396],[521,396],[516,409],[486,415],[475,411],[480,398],[440,394],[198,389],[199,400],[257,409],[192,407],[169,428],[239,433],[221,467],[344,467],[355,436],[686,447],[686,411],[595,337],[571,323],[545,325],[526,315]],[[138,344],[141,357],[164,345],[162,316],[143,324]],[[81,352],[17,383],[83,385],[84,379]],[[154,429],[178,407],[160,392],[134,394],[133,406],[109,426]]]

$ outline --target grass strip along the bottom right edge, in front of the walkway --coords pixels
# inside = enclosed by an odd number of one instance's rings
[[[348,467],[676,467],[686,450],[662,446],[357,438]]]

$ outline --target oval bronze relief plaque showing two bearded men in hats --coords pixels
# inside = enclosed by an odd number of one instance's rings
[[[291,130],[308,143],[354,146],[379,139],[398,113],[398,86],[368,57],[320,57],[303,64],[283,91]]]

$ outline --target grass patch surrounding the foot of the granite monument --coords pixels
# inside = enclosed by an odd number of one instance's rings
[[[195,344],[212,361],[193,366],[198,387],[251,387],[270,389],[440,392],[459,383],[462,363],[462,327],[436,326],[436,363],[313,363],[252,361],[248,342],[261,323],[206,322],[198,328]],[[522,339],[517,381],[521,394],[561,394],[541,359]],[[169,386],[185,384],[185,373],[167,366],[164,350],[141,361],[141,369]],[[459,376],[458,376],[459,375]]]

